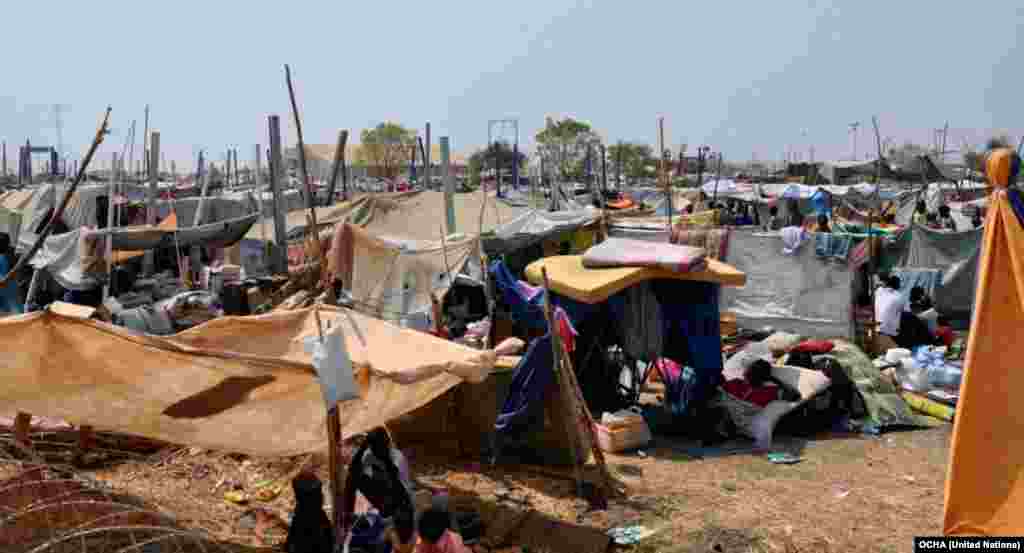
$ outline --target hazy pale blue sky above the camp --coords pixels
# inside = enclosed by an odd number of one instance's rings
[[[55,142],[59,102],[84,150],[111,104],[104,163],[132,119],[141,141],[146,102],[177,160],[250,159],[268,114],[292,142],[286,62],[309,143],[390,119],[461,151],[503,117],[528,142],[548,114],[653,142],[665,116],[670,144],[777,160],[848,157],[854,121],[862,156],[872,115],[897,142],[945,121],[950,146],[1024,129],[1021,0],[7,2],[3,19],[0,137]]]

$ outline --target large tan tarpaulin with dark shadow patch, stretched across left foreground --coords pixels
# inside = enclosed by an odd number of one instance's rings
[[[347,437],[408,414],[494,367],[479,351],[354,311],[321,307],[342,325],[367,395],[339,405]],[[222,317],[170,337],[43,311],[0,318],[5,411],[174,443],[257,456],[327,444],[325,406],[303,340],[311,308]]]

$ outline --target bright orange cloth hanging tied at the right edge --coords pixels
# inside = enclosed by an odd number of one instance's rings
[[[992,201],[946,477],[947,535],[1024,535],[1024,228],[1006,190]]]

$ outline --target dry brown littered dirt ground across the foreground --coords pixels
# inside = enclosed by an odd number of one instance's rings
[[[777,441],[776,451],[802,458],[794,465],[751,454],[698,459],[687,444],[658,438],[642,453],[607,456],[630,494],[601,512],[586,512],[584,502],[573,498],[571,479],[545,470],[408,454],[421,488],[504,502],[602,530],[638,523],[657,530],[632,548],[638,553],[902,552],[911,550],[912,537],[940,533],[950,433],[951,427],[943,426],[877,437]],[[0,450],[10,451],[9,437],[0,435]],[[13,457],[0,462],[0,477],[17,472]],[[293,506],[288,479],[305,462],[170,446],[117,457],[81,472],[173,514],[182,527],[209,533],[233,551],[266,550],[284,541]],[[326,467],[316,471],[327,481]],[[257,498],[261,490],[266,497]],[[232,491],[248,501],[225,499]],[[269,521],[263,536],[253,528],[254,509]]]

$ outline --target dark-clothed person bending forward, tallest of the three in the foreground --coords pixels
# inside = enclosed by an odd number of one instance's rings
[[[413,543],[416,509],[409,463],[391,444],[387,431],[377,428],[367,435],[352,458],[345,480],[342,513],[354,512],[358,492],[381,516],[393,519],[400,544]]]

